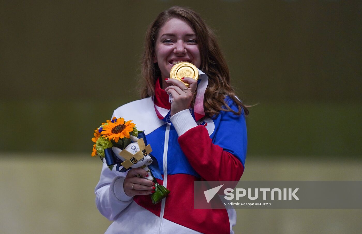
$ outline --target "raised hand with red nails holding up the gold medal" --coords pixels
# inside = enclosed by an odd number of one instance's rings
[[[186,83],[190,84],[187,88],[184,83],[176,79],[167,79],[166,82],[172,84],[165,88],[167,94],[172,95],[171,116],[180,112],[181,110],[189,109],[191,101],[194,97],[197,88],[197,80],[189,77],[182,78]]]

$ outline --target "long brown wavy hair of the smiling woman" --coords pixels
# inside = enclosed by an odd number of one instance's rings
[[[247,107],[235,96],[235,91],[230,85],[230,74],[225,58],[220,50],[214,31],[205,24],[205,21],[195,11],[185,7],[171,7],[161,12],[150,24],[146,33],[145,50],[142,59],[141,74],[145,87],[141,90],[141,98],[150,97],[155,94],[155,83],[161,71],[157,63],[153,63],[155,44],[160,28],[171,18],[180,18],[189,23],[197,35],[201,55],[201,66],[199,69],[209,77],[204,96],[204,110],[206,116],[217,116],[221,110],[231,111],[240,115],[244,109],[245,115],[249,113]],[[197,90],[195,91],[195,93]],[[238,106],[238,112],[232,110],[225,102],[228,95]],[[195,97],[191,102],[194,105]],[[226,109],[223,109],[223,106]]]

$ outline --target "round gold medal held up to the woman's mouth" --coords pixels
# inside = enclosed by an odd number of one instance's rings
[[[171,68],[170,78],[180,80],[186,85],[186,87],[189,87],[190,84],[183,82],[183,80],[181,79],[182,77],[190,77],[194,80],[197,80],[199,78],[199,71],[197,70],[197,67],[195,67],[195,65],[192,63],[177,63]]]

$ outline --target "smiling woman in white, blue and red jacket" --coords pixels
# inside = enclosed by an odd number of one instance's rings
[[[152,204],[154,184],[138,176],[147,177],[145,170],[110,171],[104,164],[95,192],[97,208],[115,221],[106,233],[233,233],[235,210],[194,209],[193,201],[194,181],[239,181],[247,151],[248,110],[235,96],[215,38],[196,12],[183,7],[160,13],[149,26],[142,99],[117,108],[113,117],[144,130],[159,163],[157,182],[171,193]],[[199,69],[198,81],[170,79],[180,62]],[[201,114],[195,112],[200,107]]]

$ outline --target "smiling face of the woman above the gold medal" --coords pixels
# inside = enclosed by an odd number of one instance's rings
[[[200,67],[197,37],[188,23],[179,18],[171,18],[157,35],[153,63],[158,63],[161,78],[165,79],[169,78],[173,65],[181,61]]]

